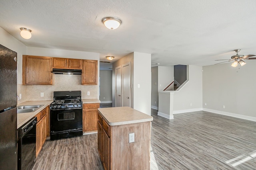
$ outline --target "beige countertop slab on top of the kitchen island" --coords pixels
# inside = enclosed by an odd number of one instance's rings
[[[107,107],[99,108],[98,111],[110,126],[126,125],[153,120],[152,116],[131,107]]]

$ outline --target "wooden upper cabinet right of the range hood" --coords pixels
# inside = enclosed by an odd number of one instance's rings
[[[96,85],[98,83],[98,61],[83,60],[82,84]]]

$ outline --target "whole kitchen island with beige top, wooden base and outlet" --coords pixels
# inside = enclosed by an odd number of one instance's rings
[[[105,170],[150,170],[152,120],[130,107],[98,109],[98,151]]]

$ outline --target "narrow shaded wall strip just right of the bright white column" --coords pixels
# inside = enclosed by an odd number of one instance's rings
[[[158,109],[158,67],[151,67],[151,108]]]

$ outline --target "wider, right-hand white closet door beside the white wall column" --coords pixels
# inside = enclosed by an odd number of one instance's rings
[[[131,66],[122,64],[122,106],[131,106]]]

